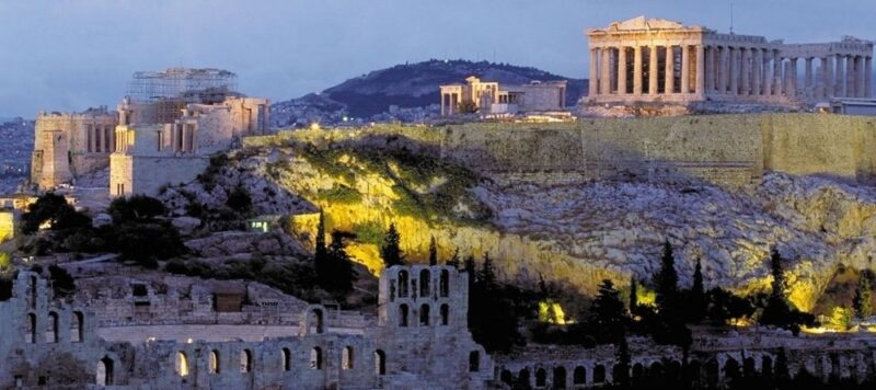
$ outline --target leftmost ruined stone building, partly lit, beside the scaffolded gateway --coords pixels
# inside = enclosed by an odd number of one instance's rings
[[[108,167],[110,153],[115,151],[117,123],[116,113],[106,107],[76,114],[37,114],[31,183],[49,190]]]

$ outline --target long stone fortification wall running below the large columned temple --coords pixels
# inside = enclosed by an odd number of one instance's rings
[[[280,131],[244,145],[308,141],[407,148],[498,180],[577,182],[615,175],[751,184],[764,171],[868,181],[876,176],[873,118],[818,114],[600,118],[560,124],[379,125]]]

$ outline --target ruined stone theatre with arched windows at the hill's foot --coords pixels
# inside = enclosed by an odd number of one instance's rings
[[[20,272],[0,301],[0,383],[481,389],[494,375],[468,331],[468,275],[453,267],[385,269],[377,318],[257,284],[185,279],[85,278],[59,299],[47,280]]]

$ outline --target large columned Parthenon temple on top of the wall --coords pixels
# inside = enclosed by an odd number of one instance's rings
[[[587,30],[591,103],[814,104],[873,96],[873,43],[785,44],[638,16]]]

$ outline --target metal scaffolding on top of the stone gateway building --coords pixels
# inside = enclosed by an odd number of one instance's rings
[[[171,123],[188,103],[216,104],[237,93],[238,76],[222,69],[170,68],[135,72],[127,95],[153,104],[159,123]]]

